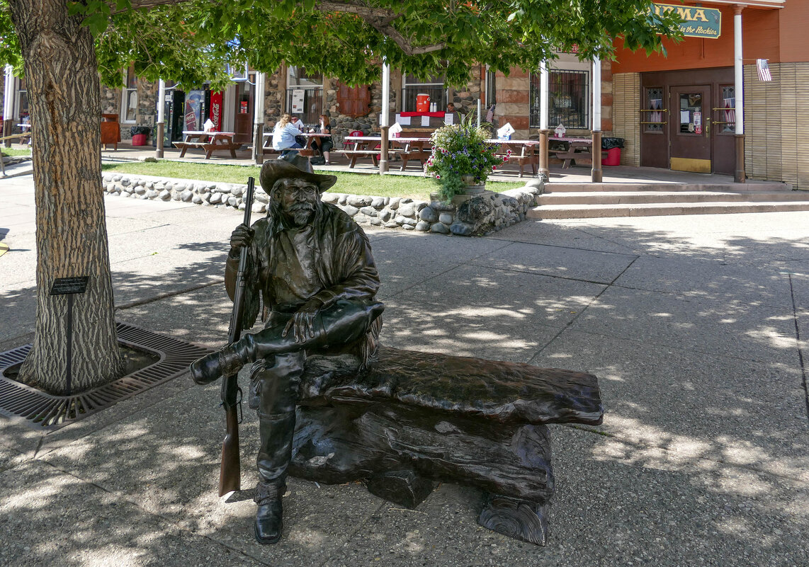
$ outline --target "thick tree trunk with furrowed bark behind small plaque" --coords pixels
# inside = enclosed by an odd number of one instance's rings
[[[100,81],[93,38],[66,0],[11,0],[23,50],[36,187],[36,335],[20,379],[75,393],[123,372],[101,187]],[[68,296],[58,277],[89,276],[73,295],[72,387],[66,372]]]

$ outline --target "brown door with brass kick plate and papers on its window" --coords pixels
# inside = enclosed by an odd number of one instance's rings
[[[710,85],[669,89],[670,165],[676,171],[710,173],[711,167]]]

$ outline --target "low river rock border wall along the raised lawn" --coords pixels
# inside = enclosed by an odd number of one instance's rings
[[[244,210],[246,184],[167,179],[154,176],[104,174],[104,193],[130,199],[184,201],[203,206]],[[401,197],[373,197],[324,193],[323,201],[337,205],[360,225],[443,235],[485,236],[525,220],[529,207],[544,190],[541,180],[528,180],[523,188],[483,193],[459,203],[418,201]],[[265,213],[269,197],[256,187],[252,210]]]

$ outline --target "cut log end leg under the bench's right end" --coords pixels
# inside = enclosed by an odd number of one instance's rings
[[[535,502],[487,493],[477,523],[529,544],[544,545],[548,541],[547,510]]]

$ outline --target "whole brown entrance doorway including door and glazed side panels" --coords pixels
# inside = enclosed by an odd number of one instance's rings
[[[732,78],[732,69],[645,74],[641,165],[732,175],[735,169]]]

